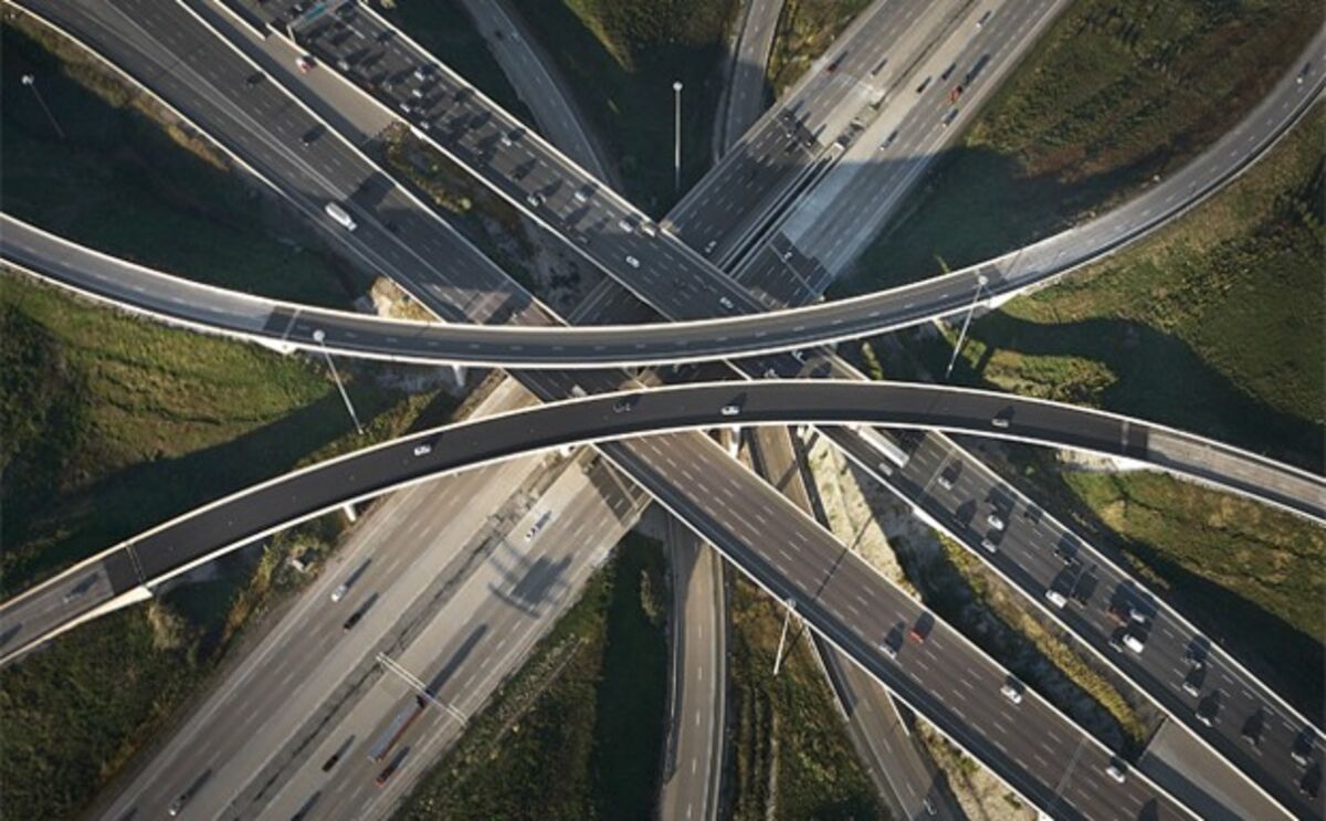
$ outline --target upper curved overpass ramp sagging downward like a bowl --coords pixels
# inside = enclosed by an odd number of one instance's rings
[[[1309,53],[1323,48],[1326,32],[1314,38]],[[77,245],[11,215],[0,215],[0,256],[86,296],[199,330],[290,347],[325,345],[354,357],[589,369],[777,353],[919,325],[965,312],[977,301],[997,304],[1109,255],[1183,214],[1261,158],[1311,107],[1323,85],[1322,60],[1281,78],[1211,150],[1095,220],[941,277],[758,314],[594,328],[379,320],[202,285]],[[322,332],[321,342],[316,332]]]

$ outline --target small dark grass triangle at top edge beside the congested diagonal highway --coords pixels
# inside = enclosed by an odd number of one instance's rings
[[[400,31],[451,66],[476,89],[524,122],[529,109],[516,95],[507,74],[475,28],[473,17],[456,0],[396,0],[378,9]]]

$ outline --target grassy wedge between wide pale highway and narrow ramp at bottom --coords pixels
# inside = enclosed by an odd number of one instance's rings
[[[400,818],[647,818],[667,720],[663,553],[627,536]]]

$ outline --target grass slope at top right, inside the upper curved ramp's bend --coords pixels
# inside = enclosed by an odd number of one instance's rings
[[[1067,227],[1199,154],[1318,31],[1315,0],[1078,0],[834,290],[875,290]]]

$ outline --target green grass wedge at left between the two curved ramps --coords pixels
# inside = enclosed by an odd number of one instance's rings
[[[321,363],[130,318],[0,276],[9,593],[204,501],[403,431],[451,402],[345,363],[353,424]],[[32,402],[32,405],[28,405]],[[30,412],[38,409],[38,412]],[[7,593],[8,594],[8,593]]]

